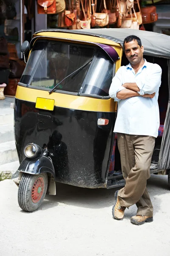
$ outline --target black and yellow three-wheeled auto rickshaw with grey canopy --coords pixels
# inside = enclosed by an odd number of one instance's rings
[[[56,181],[86,188],[125,185],[113,128],[117,103],[109,97],[116,71],[127,64],[123,40],[137,35],[147,61],[162,68],[160,128],[150,173],[170,185],[170,36],[132,29],[45,29],[25,41],[28,61],[14,103],[20,166],[13,175],[24,211],[56,194]]]

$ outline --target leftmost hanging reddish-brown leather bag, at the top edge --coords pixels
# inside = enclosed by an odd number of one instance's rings
[[[37,0],[37,12],[39,14],[56,13],[56,0]]]

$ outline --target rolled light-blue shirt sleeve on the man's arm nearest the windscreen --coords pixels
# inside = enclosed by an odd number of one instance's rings
[[[122,86],[122,67],[120,67],[112,79],[111,87],[109,89],[109,96],[113,98],[114,101],[119,102],[121,99],[118,99],[116,95],[123,89],[125,89],[125,87]]]

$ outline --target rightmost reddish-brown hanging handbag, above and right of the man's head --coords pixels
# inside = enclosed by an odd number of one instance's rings
[[[153,5],[141,8],[142,23],[153,23],[158,20],[158,14],[156,13],[156,6],[152,0]]]

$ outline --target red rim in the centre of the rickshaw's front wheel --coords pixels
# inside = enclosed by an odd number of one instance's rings
[[[42,197],[44,191],[44,179],[43,177],[38,177],[35,180],[34,185],[32,187],[31,199],[34,204],[38,203]]]

